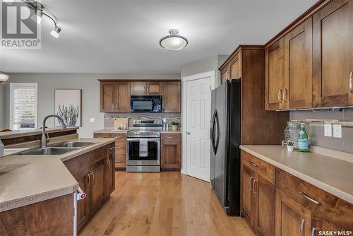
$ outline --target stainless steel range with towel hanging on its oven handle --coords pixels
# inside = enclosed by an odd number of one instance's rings
[[[126,171],[160,172],[162,119],[133,119],[127,133]]]

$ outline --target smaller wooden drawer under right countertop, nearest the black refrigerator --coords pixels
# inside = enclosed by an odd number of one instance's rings
[[[241,151],[241,161],[247,167],[255,170],[258,175],[261,175],[268,182],[275,184],[275,167],[273,165],[266,163],[245,151]]]

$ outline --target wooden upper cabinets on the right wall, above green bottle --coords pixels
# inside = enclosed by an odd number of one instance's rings
[[[322,0],[265,45],[266,110],[353,105],[353,0]]]

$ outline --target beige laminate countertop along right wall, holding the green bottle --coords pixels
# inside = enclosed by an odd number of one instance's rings
[[[282,146],[242,145],[241,150],[353,204],[353,163]]]

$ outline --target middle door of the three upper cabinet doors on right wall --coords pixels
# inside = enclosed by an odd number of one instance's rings
[[[307,19],[285,36],[283,108],[311,107],[312,20]]]

